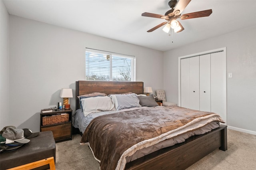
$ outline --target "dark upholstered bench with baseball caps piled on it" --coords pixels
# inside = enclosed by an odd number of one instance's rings
[[[31,138],[30,142],[11,152],[0,153],[0,170],[36,162],[45,158],[54,157],[56,160],[56,144],[52,131],[40,132]],[[49,165],[36,168],[36,170],[49,169]]]

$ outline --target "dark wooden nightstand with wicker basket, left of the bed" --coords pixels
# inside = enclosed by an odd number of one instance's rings
[[[40,113],[40,132],[52,131],[54,140],[72,140],[72,109]]]

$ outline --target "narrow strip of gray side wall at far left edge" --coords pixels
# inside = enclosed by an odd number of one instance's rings
[[[9,125],[9,14],[0,1],[0,128]],[[1,128],[2,129],[2,128]]]

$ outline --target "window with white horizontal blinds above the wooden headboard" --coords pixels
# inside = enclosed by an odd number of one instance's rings
[[[136,81],[136,59],[131,55],[86,48],[86,80]]]

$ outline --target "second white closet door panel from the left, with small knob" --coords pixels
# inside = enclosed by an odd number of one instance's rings
[[[199,103],[199,56],[190,57],[190,109],[200,110]]]

